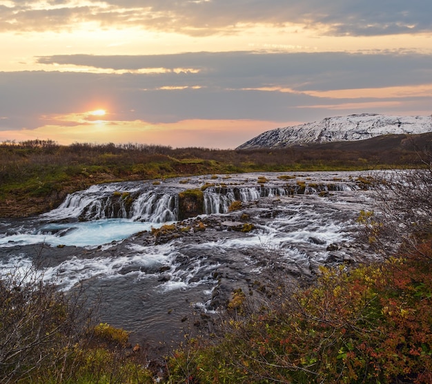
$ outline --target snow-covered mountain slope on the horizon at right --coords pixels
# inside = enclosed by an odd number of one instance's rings
[[[389,134],[432,132],[431,116],[361,115],[327,117],[321,122],[275,128],[237,149],[275,148],[308,143],[365,140]]]

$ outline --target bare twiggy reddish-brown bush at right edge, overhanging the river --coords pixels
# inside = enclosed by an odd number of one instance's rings
[[[431,238],[432,155],[429,159],[423,169],[375,173],[368,178],[373,180],[377,209],[360,215],[361,240],[376,253],[393,256],[403,245],[406,253],[418,257],[418,243]]]

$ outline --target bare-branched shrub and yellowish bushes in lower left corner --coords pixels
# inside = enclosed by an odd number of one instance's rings
[[[153,383],[128,332],[100,323],[84,291],[64,294],[35,267],[0,279],[0,383]]]

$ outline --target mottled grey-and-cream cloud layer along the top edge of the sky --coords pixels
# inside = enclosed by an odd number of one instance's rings
[[[0,6],[0,30],[68,30],[79,23],[100,28],[136,26],[190,36],[230,35],[257,24],[322,28],[328,35],[395,35],[431,32],[429,0],[107,0],[10,1]]]

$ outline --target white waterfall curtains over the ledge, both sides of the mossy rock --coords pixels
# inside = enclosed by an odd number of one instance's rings
[[[292,184],[284,186],[209,186],[203,191],[206,214],[227,213],[230,204],[239,200],[250,202],[259,198],[322,191],[349,191],[346,184]],[[122,218],[143,222],[179,220],[179,186],[151,186],[143,182],[120,182],[93,185],[71,193],[61,205],[42,218],[49,220],[99,220]]]

